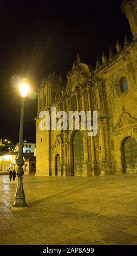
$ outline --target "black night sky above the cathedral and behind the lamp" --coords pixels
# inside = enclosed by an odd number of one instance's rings
[[[28,77],[33,90],[49,72],[66,78],[77,54],[95,66],[102,52],[132,40],[122,0],[2,0],[0,8],[0,137],[18,142],[21,98],[18,77]],[[13,78],[14,77],[14,78]],[[25,105],[24,139],[35,142],[37,100]]]

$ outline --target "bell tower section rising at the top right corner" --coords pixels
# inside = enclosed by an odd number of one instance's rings
[[[133,39],[137,38],[137,0],[124,0],[121,10],[126,14],[129,21]]]

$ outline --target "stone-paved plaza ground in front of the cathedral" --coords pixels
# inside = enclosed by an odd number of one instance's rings
[[[11,210],[16,184],[0,176],[0,245],[137,245],[137,175],[23,178],[26,210]]]

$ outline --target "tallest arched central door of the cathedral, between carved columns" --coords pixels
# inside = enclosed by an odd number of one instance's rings
[[[72,139],[72,151],[73,151],[73,175],[82,176],[83,162],[84,162],[84,150],[81,131],[75,131]]]

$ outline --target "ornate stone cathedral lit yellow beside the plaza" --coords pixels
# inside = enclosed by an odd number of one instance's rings
[[[102,54],[96,68],[79,56],[67,74],[49,75],[38,90],[36,175],[92,176],[137,173],[137,0],[121,6],[133,34],[132,42],[116,42],[116,53]],[[91,53],[92,54],[92,53]],[[40,130],[41,111],[97,111],[98,130]]]

